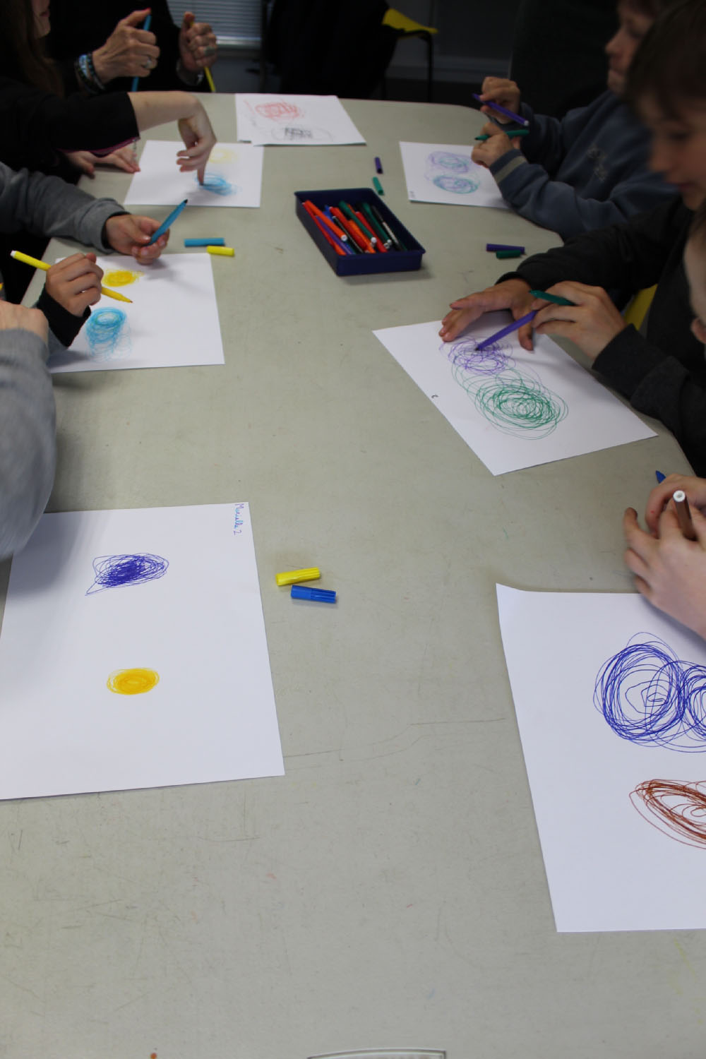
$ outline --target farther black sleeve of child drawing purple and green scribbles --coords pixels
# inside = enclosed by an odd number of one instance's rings
[[[675,197],[622,225],[584,232],[563,247],[535,254],[502,279],[519,277],[541,290],[561,280],[607,290],[641,290],[659,280],[689,217],[690,211]]]

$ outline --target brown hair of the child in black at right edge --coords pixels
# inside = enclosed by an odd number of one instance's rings
[[[671,119],[690,101],[706,102],[704,0],[678,0],[654,21],[630,65],[627,96],[633,106],[652,96]]]

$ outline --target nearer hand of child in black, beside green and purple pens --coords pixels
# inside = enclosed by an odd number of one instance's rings
[[[540,309],[533,321],[535,333],[568,338],[592,361],[628,326],[602,287],[565,280],[549,287],[548,292],[575,304],[545,305],[538,299],[530,306]]]

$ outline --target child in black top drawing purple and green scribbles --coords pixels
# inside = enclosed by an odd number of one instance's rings
[[[593,367],[639,412],[674,433],[698,473],[706,472],[706,362],[690,329],[692,312],[682,264],[692,211],[706,198],[706,4],[681,0],[656,20],[628,75],[628,91],[652,136],[652,167],[681,197],[622,225],[537,254],[494,287],[451,303],[440,335],[452,341],[484,312],[514,319],[539,309],[518,331],[531,349],[537,334],[571,339]],[[641,335],[607,289],[633,292],[657,284]],[[568,299],[547,306],[530,290]]]

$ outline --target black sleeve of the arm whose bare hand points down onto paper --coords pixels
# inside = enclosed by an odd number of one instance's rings
[[[109,150],[139,136],[125,93],[61,100],[0,77],[0,161],[13,169],[47,170],[60,150]]]

